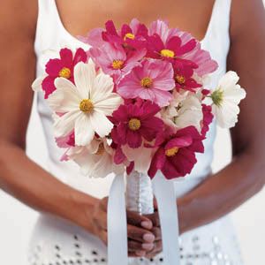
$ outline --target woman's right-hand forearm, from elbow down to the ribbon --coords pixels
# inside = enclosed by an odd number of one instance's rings
[[[262,156],[245,152],[179,198],[181,233],[215,221],[258,193],[264,185],[264,170]]]

